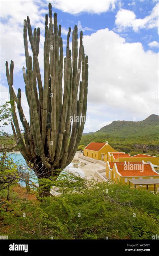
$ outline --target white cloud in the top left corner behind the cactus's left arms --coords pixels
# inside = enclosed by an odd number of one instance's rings
[[[42,6],[41,6],[42,4]],[[8,8],[9,6],[9,8]],[[40,7],[42,8],[40,10]],[[44,9],[46,7],[46,10]],[[7,10],[7,11],[6,11]],[[23,20],[27,15],[31,18],[32,30],[40,27],[40,52],[39,64],[43,68],[43,43],[45,31],[45,17],[41,13],[48,13],[48,4],[40,3],[38,0],[27,1],[1,1],[1,72],[5,74],[5,61],[14,61],[14,75],[22,72],[22,66],[25,66],[24,45],[23,45]],[[2,40],[3,38],[3,40]],[[29,38],[29,54],[32,55]]]

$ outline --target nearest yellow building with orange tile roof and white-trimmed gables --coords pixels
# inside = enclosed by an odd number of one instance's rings
[[[106,163],[106,177],[112,181],[130,184],[131,187],[154,190],[159,187],[159,174],[152,163],[139,162],[108,162]],[[154,179],[154,181],[152,180]],[[140,185],[134,185],[134,180]],[[130,182],[129,182],[130,181]],[[142,185],[144,184],[144,185]],[[155,185],[154,185],[155,184]]]

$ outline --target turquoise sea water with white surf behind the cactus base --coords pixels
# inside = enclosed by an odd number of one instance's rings
[[[3,153],[0,153],[0,156],[2,156]],[[9,152],[7,153],[7,156],[9,158],[12,158],[14,163],[17,166],[24,166],[24,169],[26,169],[27,163],[25,162],[25,159],[23,158],[23,156],[21,155],[20,152]],[[61,173],[65,173],[66,171],[74,173],[76,175],[80,175],[81,177],[85,177],[85,173],[84,171],[81,169],[80,163],[76,164],[77,167],[74,167],[73,163],[70,163],[69,165],[66,166],[66,168],[61,172]],[[33,171],[30,171],[30,177],[35,177],[36,175],[34,174]],[[34,181],[36,183],[36,178],[30,178],[32,181]],[[20,185],[25,187],[25,182],[20,182]],[[38,185],[38,184],[37,184]]]

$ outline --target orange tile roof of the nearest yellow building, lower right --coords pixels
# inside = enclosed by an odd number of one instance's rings
[[[136,163],[142,163],[142,162],[129,162],[129,164],[136,164]],[[158,176],[159,174],[154,172],[152,170],[152,167],[150,164],[143,164],[144,168],[143,168],[143,172],[141,172],[140,170],[124,170],[124,163],[123,165],[119,165],[117,164],[117,169],[118,172],[123,176],[123,177],[131,177],[131,176]]]

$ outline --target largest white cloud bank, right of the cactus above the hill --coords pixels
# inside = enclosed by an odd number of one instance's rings
[[[154,96],[158,91],[157,53],[145,52],[140,42],[125,43],[108,29],[85,36],[83,41],[89,56],[90,123],[91,116],[107,121],[158,114],[158,98]]]

